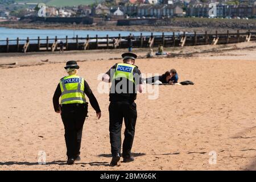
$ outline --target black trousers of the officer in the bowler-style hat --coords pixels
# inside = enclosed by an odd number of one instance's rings
[[[87,113],[88,104],[65,104],[61,107],[68,159],[80,155],[82,127]]]

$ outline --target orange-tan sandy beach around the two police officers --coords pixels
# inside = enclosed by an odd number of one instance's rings
[[[138,94],[135,161],[110,167],[109,96],[97,91],[98,77],[125,51],[1,54],[0,170],[256,170],[255,42],[166,48],[170,57],[152,59],[135,49],[145,75],[175,68],[179,81],[195,85],[156,86],[156,100]],[[65,164],[64,126],[52,105],[67,60],[79,61],[102,110],[97,120],[89,106],[81,161],[73,166]],[[46,165],[38,164],[39,151]],[[212,151],[216,164],[209,163]]]

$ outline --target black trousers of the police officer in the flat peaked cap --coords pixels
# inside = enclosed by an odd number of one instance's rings
[[[135,125],[137,119],[137,106],[135,102],[110,102],[109,105],[109,132],[112,156],[121,154],[121,129],[125,119],[125,139],[123,140],[123,158],[131,156]]]

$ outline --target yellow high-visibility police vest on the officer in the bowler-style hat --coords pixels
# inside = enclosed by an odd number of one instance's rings
[[[71,75],[61,78],[61,104],[84,104],[86,103],[84,94],[84,78]]]

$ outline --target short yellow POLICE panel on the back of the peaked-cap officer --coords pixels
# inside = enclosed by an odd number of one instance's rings
[[[118,63],[117,68],[115,68],[115,74],[113,76],[113,79],[125,77],[127,78],[127,80],[134,82],[133,70],[135,67],[136,66],[132,64]]]

